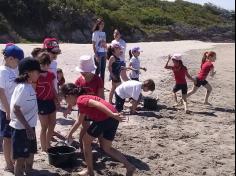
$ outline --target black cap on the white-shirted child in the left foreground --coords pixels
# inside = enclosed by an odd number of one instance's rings
[[[24,58],[20,61],[19,66],[19,75],[23,75],[28,71],[39,71],[41,72],[40,64],[36,59],[32,57]]]

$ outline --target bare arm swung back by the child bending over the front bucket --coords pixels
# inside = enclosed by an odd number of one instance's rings
[[[89,100],[88,103],[89,107],[96,108],[97,110],[105,113],[108,117],[114,118],[118,120],[119,122],[124,121],[124,117],[121,116],[119,113],[113,113],[109,108],[107,108],[104,104],[95,101],[95,100]]]

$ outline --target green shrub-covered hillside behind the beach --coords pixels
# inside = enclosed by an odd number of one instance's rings
[[[198,39],[231,42],[235,11],[176,0],[0,0],[0,42],[89,43],[103,17],[108,41],[118,28],[129,42]]]

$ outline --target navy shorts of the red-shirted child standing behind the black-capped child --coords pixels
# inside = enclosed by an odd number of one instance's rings
[[[56,111],[54,100],[37,100],[39,115],[49,115]]]

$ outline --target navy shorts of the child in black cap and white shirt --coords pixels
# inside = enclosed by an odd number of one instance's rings
[[[33,128],[35,131],[35,128]],[[37,153],[37,141],[27,138],[26,130],[12,130],[13,159],[28,158],[30,154]]]

